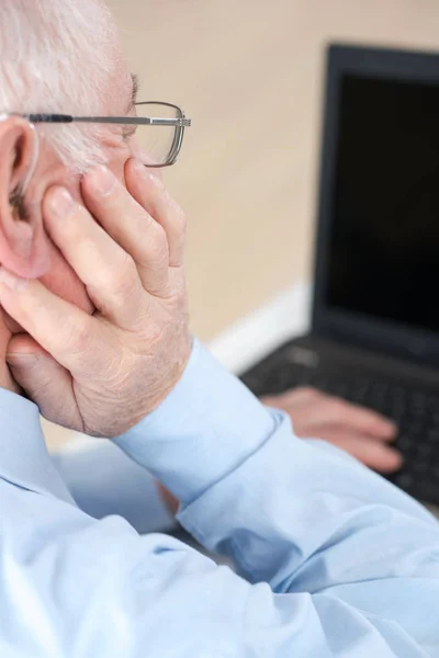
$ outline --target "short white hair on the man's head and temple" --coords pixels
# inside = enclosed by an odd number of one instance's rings
[[[0,0],[0,113],[102,114],[116,29],[99,0]],[[104,161],[93,124],[40,124],[78,172]]]

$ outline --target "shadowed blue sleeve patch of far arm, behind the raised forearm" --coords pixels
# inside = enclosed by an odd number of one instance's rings
[[[157,480],[110,441],[52,455],[78,507],[94,519],[123,517],[140,534],[177,527]]]

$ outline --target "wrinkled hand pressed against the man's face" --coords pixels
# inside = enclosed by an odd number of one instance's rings
[[[136,161],[125,179],[127,190],[98,168],[82,182],[87,209],[63,209],[59,188],[43,205],[46,230],[86,284],[93,316],[40,281],[0,273],[0,303],[27,332],[8,349],[15,381],[46,419],[94,436],[121,434],[157,408],[191,351],[184,217]]]

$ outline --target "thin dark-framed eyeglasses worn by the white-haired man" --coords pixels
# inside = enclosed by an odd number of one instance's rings
[[[97,123],[123,126],[125,139],[138,139],[146,167],[175,164],[183,143],[184,128],[192,125],[178,105],[149,101],[135,103],[136,116],[71,116],[69,114],[22,114],[31,123]]]

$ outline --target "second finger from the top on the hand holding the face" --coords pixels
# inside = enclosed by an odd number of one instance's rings
[[[134,164],[132,166],[134,168]],[[154,190],[150,174],[136,170],[138,189]],[[166,295],[168,287],[169,247],[166,232],[148,212],[133,198],[124,185],[105,168],[95,168],[82,182],[88,209],[104,231],[128,253],[137,265],[145,290]]]

